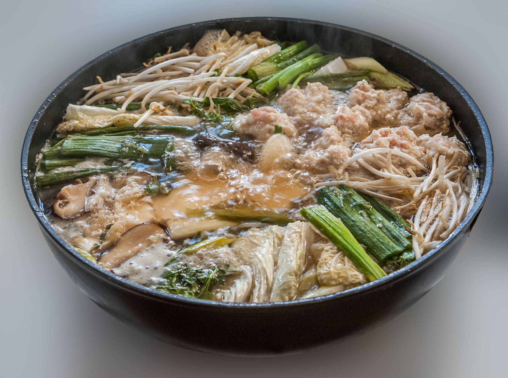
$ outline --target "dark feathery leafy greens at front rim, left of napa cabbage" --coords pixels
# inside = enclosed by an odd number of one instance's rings
[[[163,274],[166,283],[156,289],[184,297],[211,299],[210,287],[215,284],[225,285],[224,277],[230,272],[227,269],[228,266],[226,269],[201,269],[178,264]]]

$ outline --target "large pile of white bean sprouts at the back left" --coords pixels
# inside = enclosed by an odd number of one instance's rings
[[[119,112],[125,112],[132,102],[141,101],[144,111],[151,102],[167,105],[181,100],[202,102],[206,97],[229,97],[243,101],[249,96],[261,94],[248,85],[252,80],[239,76],[260,57],[266,58],[280,51],[271,44],[258,48],[257,43],[247,43],[233,36],[221,46],[220,52],[210,56],[198,56],[187,47],[155,57],[141,72],[119,74],[116,79],[84,87],[88,92],[81,104],[101,104],[112,101],[121,104]],[[236,75],[236,76],[235,76]],[[214,108],[211,101],[209,111]]]

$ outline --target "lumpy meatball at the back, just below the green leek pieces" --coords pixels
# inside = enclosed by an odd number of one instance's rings
[[[372,128],[378,128],[394,126],[399,111],[406,103],[407,93],[403,90],[375,90],[362,80],[351,89],[347,106],[362,114]]]

